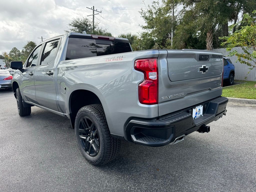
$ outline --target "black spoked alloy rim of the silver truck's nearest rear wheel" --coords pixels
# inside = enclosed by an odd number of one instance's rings
[[[100,149],[100,137],[95,123],[89,117],[81,118],[78,134],[84,151],[91,157],[96,156]]]

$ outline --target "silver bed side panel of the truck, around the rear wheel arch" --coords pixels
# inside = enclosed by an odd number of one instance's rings
[[[158,57],[158,54],[158,50],[135,51],[61,61],[57,67],[56,86],[60,112],[69,114],[71,93],[84,89],[99,97],[113,134],[124,136],[124,124],[131,117],[158,116],[158,105],[139,103],[138,84],[143,81],[144,74],[134,70],[136,59]],[[107,57],[120,55],[123,55],[121,61],[106,61]],[[61,82],[66,84],[66,94],[60,91]]]

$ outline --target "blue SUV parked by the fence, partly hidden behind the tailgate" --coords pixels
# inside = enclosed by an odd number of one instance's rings
[[[227,85],[233,85],[234,77],[235,77],[235,66],[231,62],[231,60],[227,57],[223,57],[224,59],[224,74],[223,81],[227,83]]]

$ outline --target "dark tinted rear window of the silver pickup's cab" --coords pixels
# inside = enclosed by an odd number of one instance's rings
[[[130,52],[128,42],[69,38],[66,60]]]

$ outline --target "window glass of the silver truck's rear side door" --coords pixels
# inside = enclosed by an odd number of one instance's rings
[[[59,39],[47,42],[41,59],[41,65],[47,65],[55,59]]]

